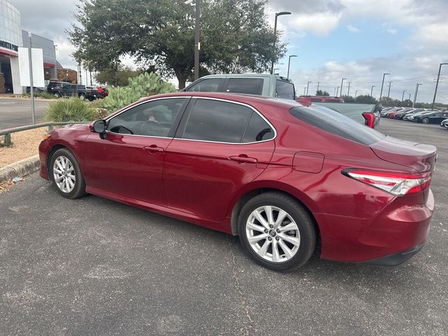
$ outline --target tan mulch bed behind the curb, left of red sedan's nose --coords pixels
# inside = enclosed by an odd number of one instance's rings
[[[10,147],[0,146],[0,168],[37,155],[38,146],[46,133],[47,127],[12,133],[13,144]],[[0,137],[0,142],[3,143],[3,137]]]

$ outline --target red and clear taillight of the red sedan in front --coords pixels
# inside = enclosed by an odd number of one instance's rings
[[[425,190],[429,187],[433,178],[433,174],[430,172],[406,174],[346,169],[342,171],[342,174],[398,196],[415,194]]]

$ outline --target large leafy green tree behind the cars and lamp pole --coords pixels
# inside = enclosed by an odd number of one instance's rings
[[[199,1],[199,0],[198,0]],[[202,0],[200,62],[205,72],[262,72],[283,57],[285,43],[269,26],[267,0]],[[76,55],[96,71],[120,57],[175,75],[185,87],[194,68],[194,8],[183,0],[90,0],[69,32]]]

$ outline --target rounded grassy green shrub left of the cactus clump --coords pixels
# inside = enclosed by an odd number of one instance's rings
[[[60,99],[50,103],[45,120],[66,122],[66,121],[91,121],[94,120],[96,109],[94,106],[83,102],[79,98]]]

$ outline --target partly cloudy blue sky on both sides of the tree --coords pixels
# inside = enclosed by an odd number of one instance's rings
[[[74,21],[79,1],[10,2],[21,12],[22,27],[52,38],[59,62],[76,69],[64,29]],[[311,80],[310,93],[320,81],[332,94],[341,78],[347,78],[358,94],[370,93],[376,85],[374,96],[379,97],[382,74],[388,72],[391,97],[401,99],[403,90],[413,97],[419,81],[423,85],[417,101],[432,101],[438,66],[448,62],[448,0],[268,0],[272,25],[274,13],[281,10],[293,13],[279,17],[279,30],[288,42],[286,55],[299,55],[291,59],[290,69],[297,92]],[[279,73],[286,76],[288,57],[279,63]],[[442,67],[437,101],[448,103],[448,65]]]

